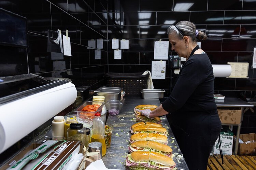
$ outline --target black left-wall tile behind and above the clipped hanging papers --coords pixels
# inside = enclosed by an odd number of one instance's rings
[[[80,44],[80,22],[55,5],[51,5],[51,11],[53,31],[59,29],[66,35],[66,30],[68,30],[70,42]]]

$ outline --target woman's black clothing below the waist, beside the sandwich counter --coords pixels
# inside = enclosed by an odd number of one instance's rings
[[[205,121],[208,124],[205,124]],[[218,115],[211,115],[202,122],[191,122],[182,127],[171,125],[171,129],[188,168],[206,170],[212,147],[221,131]]]

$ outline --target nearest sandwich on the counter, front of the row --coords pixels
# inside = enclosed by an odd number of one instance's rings
[[[175,165],[172,158],[156,152],[136,151],[126,157],[126,166],[130,169],[172,170]]]

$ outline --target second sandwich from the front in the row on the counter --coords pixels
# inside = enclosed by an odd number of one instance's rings
[[[154,141],[138,141],[138,142],[131,143],[131,146],[129,147],[129,151],[130,152],[136,152],[136,151],[152,152],[153,151],[171,158],[173,157],[171,147],[159,142],[154,142]]]

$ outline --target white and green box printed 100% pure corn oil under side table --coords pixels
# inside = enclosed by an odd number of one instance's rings
[[[233,132],[221,132],[221,149],[223,155],[232,155]],[[220,154],[218,139],[212,148],[214,154]]]

